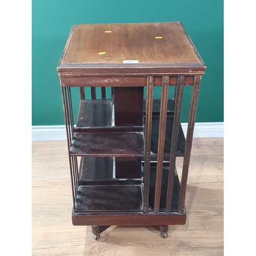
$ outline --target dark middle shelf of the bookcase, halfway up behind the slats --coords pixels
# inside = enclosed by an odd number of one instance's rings
[[[168,161],[174,123],[175,101],[168,99],[164,160]],[[153,100],[151,157],[158,148],[160,100]],[[81,100],[70,156],[144,157],[144,125],[115,126],[112,99]],[[142,115],[145,123],[145,112]],[[179,124],[177,156],[184,156],[185,136]]]

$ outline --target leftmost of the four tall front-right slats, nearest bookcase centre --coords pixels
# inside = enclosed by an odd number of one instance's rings
[[[151,157],[151,130],[153,110],[154,77],[147,77],[146,85],[146,120],[145,120],[145,152],[144,152],[144,187],[143,187],[143,212],[148,212],[150,194],[150,157]]]

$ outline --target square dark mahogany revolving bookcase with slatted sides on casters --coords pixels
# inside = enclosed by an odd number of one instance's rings
[[[150,225],[167,238],[168,225],[185,224],[205,69],[180,22],[73,26],[57,67],[73,225],[91,225],[99,239],[111,225]],[[180,124],[184,86],[193,87],[186,138]],[[160,99],[153,97],[157,87]],[[76,115],[73,88],[79,91]],[[183,157],[181,182],[177,157]]]

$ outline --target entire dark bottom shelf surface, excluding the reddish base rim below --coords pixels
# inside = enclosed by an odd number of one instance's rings
[[[83,157],[76,211],[141,211],[141,179],[114,179],[112,157]],[[156,162],[150,168],[149,211],[154,211]],[[169,167],[164,162],[160,212],[165,212]],[[175,169],[171,212],[178,212],[180,182]]]

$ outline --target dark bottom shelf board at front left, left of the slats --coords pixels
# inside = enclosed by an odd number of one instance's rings
[[[79,186],[75,210],[141,211],[141,185]]]

